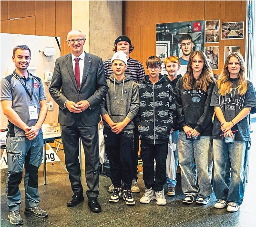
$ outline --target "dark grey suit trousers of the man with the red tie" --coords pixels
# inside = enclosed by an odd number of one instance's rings
[[[85,155],[85,177],[89,190],[88,198],[99,195],[99,136],[98,125],[86,127],[81,118],[77,118],[72,126],[61,125],[61,138],[65,153],[65,163],[69,172],[71,188],[74,193],[82,193],[81,170],[79,164],[79,138]]]

